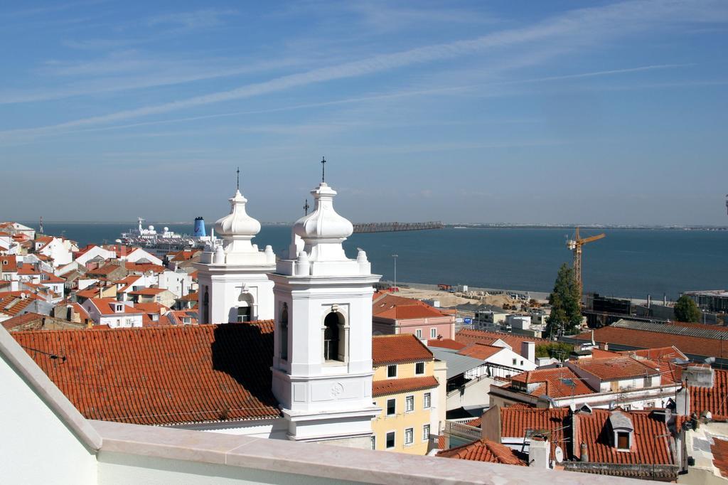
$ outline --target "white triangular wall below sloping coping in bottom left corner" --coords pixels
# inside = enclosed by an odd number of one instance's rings
[[[95,484],[95,455],[87,451],[4,357],[0,357],[0,388],[0,481]]]

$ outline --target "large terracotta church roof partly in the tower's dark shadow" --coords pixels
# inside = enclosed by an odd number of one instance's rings
[[[17,334],[87,419],[171,425],[280,416],[271,391],[272,320]]]

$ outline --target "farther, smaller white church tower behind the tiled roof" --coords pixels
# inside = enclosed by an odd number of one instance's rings
[[[261,223],[245,212],[240,189],[230,199],[230,213],[215,222],[223,239],[205,247],[195,264],[199,282],[199,323],[231,323],[273,319],[273,282],[267,273],[275,270],[270,246],[259,251],[250,240]]]

